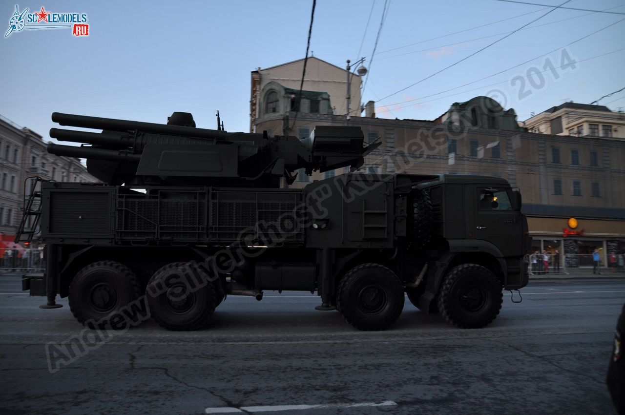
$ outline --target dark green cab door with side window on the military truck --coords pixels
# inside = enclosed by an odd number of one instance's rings
[[[523,224],[521,211],[512,205],[509,187],[466,186],[465,201],[475,212],[467,215],[467,232],[475,239],[494,244],[504,257],[522,256]]]

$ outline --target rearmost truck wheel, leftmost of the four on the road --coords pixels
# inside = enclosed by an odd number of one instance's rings
[[[139,279],[124,264],[98,261],[81,269],[69,285],[69,309],[91,329],[121,329],[108,317],[139,297]]]

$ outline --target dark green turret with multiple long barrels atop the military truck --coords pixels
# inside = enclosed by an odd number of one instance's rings
[[[99,133],[53,128],[59,141],[48,153],[87,159],[87,169],[109,184],[171,184],[278,187],[293,172],[362,166],[380,143],[364,146],[359,127],[317,126],[308,138],[227,133],[195,128],[188,113],[173,113],[168,124],[53,113],[62,126],[101,129]],[[89,144],[86,146],[85,144]]]

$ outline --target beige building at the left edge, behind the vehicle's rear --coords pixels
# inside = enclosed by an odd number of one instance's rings
[[[22,219],[24,194],[31,191],[32,181],[28,178],[98,182],[79,159],[48,154],[46,145],[41,135],[0,116],[1,241],[12,241],[15,236]]]

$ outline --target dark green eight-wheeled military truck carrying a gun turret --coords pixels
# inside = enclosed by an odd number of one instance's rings
[[[488,176],[359,173],[379,146],[360,128],[317,126],[300,139],[196,128],[187,113],[167,124],[52,119],[102,130],[53,128],[83,145],[48,151],[87,159],[103,183],[32,179],[16,239],[40,231],[47,262],[22,287],[46,295],[42,307],[69,296],[89,327],[126,327],[144,311],[166,329],[200,329],[226,296],[295,290],[317,292],[316,309],[357,329],[390,327],[404,293],[476,328],[496,318],[502,289],[527,284],[518,190]],[[287,188],[298,169],[344,167]]]

